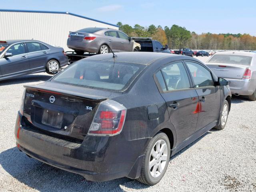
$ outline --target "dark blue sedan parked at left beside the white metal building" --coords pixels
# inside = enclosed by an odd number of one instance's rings
[[[53,74],[66,64],[61,47],[37,40],[0,41],[0,80],[38,72]]]

